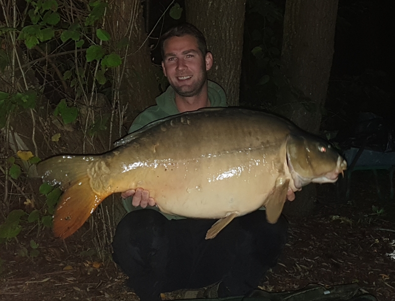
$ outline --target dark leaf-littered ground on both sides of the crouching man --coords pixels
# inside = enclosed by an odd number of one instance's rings
[[[388,197],[388,173],[380,173],[380,182]],[[395,261],[386,255],[395,249],[394,201],[378,199],[368,171],[353,174],[352,192],[349,202],[341,202],[334,185],[322,185],[312,215],[288,217],[288,243],[261,289],[280,292],[309,283],[330,287],[357,282],[379,301],[395,300]],[[384,208],[384,214],[373,205]],[[81,253],[93,248],[83,230],[65,242],[49,230],[37,234],[37,228],[24,229],[17,241],[0,245],[0,300],[138,300],[110,257],[103,261]],[[30,248],[31,239],[40,244],[39,255],[19,256],[22,247]],[[163,299],[181,299],[183,293],[166,293]]]

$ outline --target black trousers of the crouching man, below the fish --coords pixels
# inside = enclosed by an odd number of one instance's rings
[[[215,238],[205,240],[214,223],[169,221],[150,209],[130,212],[117,226],[113,259],[142,301],[218,281],[228,289],[228,296],[244,295],[276,264],[288,223],[281,216],[276,224],[269,224],[266,212],[257,210],[234,219]]]

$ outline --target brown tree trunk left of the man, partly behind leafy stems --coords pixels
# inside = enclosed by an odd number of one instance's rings
[[[117,70],[113,83],[114,89],[117,90],[116,83],[120,80],[118,85],[119,106],[121,108],[127,106],[122,120],[124,131],[120,135],[124,136],[137,114],[147,107],[155,105],[155,97],[159,95],[155,73],[162,73],[162,71],[156,70],[151,63],[140,0],[116,0],[111,4],[109,11],[107,30],[113,37],[112,44],[116,46],[122,39],[129,40],[127,49],[124,47],[116,50],[120,53],[122,65]],[[127,54],[126,59],[125,54]],[[123,66],[124,75],[120,78]],[[113,136],[113,141],[118,138]],[[111,204],[113,201],[114,207]],[[111,213],[114,226],[126,213],[118,194],[114,200],[112,196],[107,198],[103,202],[103,207],[106,207],[106,210]]]

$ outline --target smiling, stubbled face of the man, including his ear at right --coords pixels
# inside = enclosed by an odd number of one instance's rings
[[[173,89],[184,97],[199,94],[212,66],[211,53],[203,56],[196,38],[190,35],[168,38],[163,50],[163,73]]]

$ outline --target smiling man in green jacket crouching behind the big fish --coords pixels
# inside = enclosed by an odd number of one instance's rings
[[[203,35],[191,24],[170,29],[161,37],[162,67],[170,86],[157,105],[134,120],[133,132],[169,115],[205,107],[226,107],[223,89],[207,80],[213,57]],[[207,290],[209,297],[244,295],[256,288],[264,273],[276,264],[285,245],[287,222],[266,222],[264,210],[239,217],[212,240],[205,240],[214,220],[177,219],[156,210],[155,200],[143,188],[128,190],[131,211],[117,226],[113,258],[128,275],[128,285],[140,300],[160,300],[160,293],[178,289]],[[152,207],[154,206],[154,207]]]

